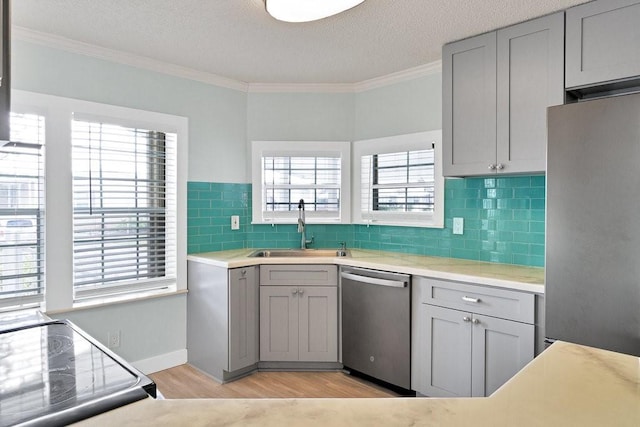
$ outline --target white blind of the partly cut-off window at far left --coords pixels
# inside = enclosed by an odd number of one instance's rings
[[[0,308],[44,295],[44,117],[11,113],[0,147]]]

